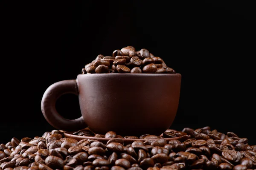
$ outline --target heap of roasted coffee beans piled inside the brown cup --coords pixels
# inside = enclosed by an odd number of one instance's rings
[[[163,59],[154,57],[147,49],[136,51],[133,46],[113,51],[112,56],[98,55],[85,65],[82,74],[93,73],[175,73]]]

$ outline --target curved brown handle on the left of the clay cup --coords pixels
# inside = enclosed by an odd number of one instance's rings
[[[56,101],[63,94],[79,95],[78,85],[76,80],[64,80],[56,82],[47,88],[41,101],[41,110],[44,118],[50,125],[66,131],[76,131],[87,127],[81,116],[78,119],[70,120],[62,117],[55,108]]]

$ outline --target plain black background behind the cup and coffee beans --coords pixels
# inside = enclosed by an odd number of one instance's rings
[[[3,4],[0,143],[53,130],[41,98],[97,55],[147,48],[182,74],[171,128],[210,126],[256,144],[255,10],[236,1],[51,1]],[[253,45],[254,44],[254,45]],[[57,110],[79,117],[76,96]]]

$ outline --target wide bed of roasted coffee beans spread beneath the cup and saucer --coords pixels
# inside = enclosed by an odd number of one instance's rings
[[[79,131],[81,132],[81,131]],[[87,132],[90,133],[89,131]],[[63,131],[0,144],[2,170],[255,170],[256,145],[233,132],[184,128],[163,137],[124,144],[111,132],[106,144],[64,138]],[[88,135],[90,136],[90,135]],[[93,135],[92,135],[93,136]],[[148,136],[148,135],[146,135]],[[145,137],[145,136],[144,136]],[[145,139],[145,138],[144,138]]]

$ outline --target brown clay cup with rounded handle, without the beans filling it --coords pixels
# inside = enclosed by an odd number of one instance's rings
[[[180,98],[180,74],[79,74],[45,91],[41,110],[53,127],[75,131],[89,127],[94,133],[160,135],[175,119]],[[55,108],[63,94],[79,96],[82,116],[62,117]]]

